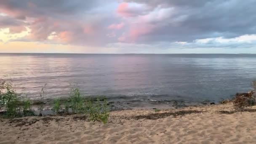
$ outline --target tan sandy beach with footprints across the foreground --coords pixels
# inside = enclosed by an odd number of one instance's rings
[[[0,144],[256,144],[256,107],[250,109],[233,113],[229,103],[122,110],[106,125],[83,115],[0,119]]]

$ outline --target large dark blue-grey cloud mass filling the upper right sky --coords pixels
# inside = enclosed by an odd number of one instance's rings
[[[149,35],[138,41],[192,41],[206,37],[237,37],[256,33],[255,0],[126,0],[153,8],[173,8]],[[182,17],[180,21],[174,21]],[[155,24],[160,25],[160,24]]]

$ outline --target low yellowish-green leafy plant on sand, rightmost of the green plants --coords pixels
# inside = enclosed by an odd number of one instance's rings
[[[104,99],[104,103],[101,105],[99,99],[96,103],[88,101],[88,112],[91,121],[102,121],[104,124],[107,123],[109,118],[109,107],[107,105],[107,99]]]

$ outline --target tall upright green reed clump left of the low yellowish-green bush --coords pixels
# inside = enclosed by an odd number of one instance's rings
[[[69,104],[72,109],[72,113],[83,113],[85,112],[84,99],[78,88],[72,88],[69,96]]]

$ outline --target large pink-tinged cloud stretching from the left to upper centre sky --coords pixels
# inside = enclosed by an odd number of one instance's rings
[[[66,9],[64,5],[52,7],[51,3],[45,3],[44,5],[43,2],[33,1],[33,3],[22,3],[21,7],[17,6],[12,3],[0,4],[0,9],[3,10],[3,13],[6,13],[16,21],[25,23],[16,24],[13,27],[8,25],[10,31],[13,33],[21,32],[26,30],[26,27],[29,27],[31,31],[26,38],[42,42],[55,40],[60,43],[90,43],[95,45],[109,43],[109,40],[113,42],[116,39],[119,41],[139,42],[141,37],[143,39],[147,38],[145,35],[148,36],[153,31],[154,27],[151,23],[155,21],[152,22],[151,19],[158,16],[147,17],[152,9],[146,4],[136,3],[135,1],[119,3],[115,12],[123,17],[115,17],[111,23],[106,21],[105,16],[102,18],[101,16],[86,17],[85,19],[82,17],[75,18],[74,16],[76,15],[65,13],[65,11],[75,13],[76,10]],[[158,17],[162,18],[162,15]],[[16,27],[17,25],[21,27]],[[154,23],[153,25],[156,24]],[[54,36],[52,36],[53,32]],[[120,35],[121,32],[124,32],[124,35]],[[48,38],[49,36],[52,37]]]

